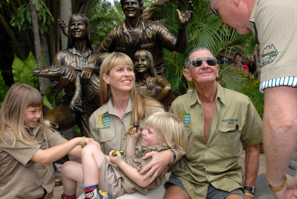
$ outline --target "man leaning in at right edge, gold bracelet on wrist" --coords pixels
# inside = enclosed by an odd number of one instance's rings
[[[297,142],[296,0],[210,0],[212,11],[239,34],[260,43],[260,91],[264,92],[263,142],[268,186],[276,198],[297,197],[286,175]]]

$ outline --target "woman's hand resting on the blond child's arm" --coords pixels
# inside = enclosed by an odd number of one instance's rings
[[[152,183],[158,175],[161,174],[161,172],[165,169],[165,167],[170,163],[174,161],[173,153],[170,150],[166,151],[152,151],[143,157],[143,159],[147,159],[149,157],[152,157],[151,162],[147,164],[140,172],[139,174],[144,174],[145,171],[151,169],[143,178],[142,180],[147,180],[150,176],[151,179],[148,181],[148,183]]]

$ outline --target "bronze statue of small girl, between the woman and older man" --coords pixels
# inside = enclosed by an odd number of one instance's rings
[[[153,55],[147,50],[138,50],[134,54],[133,63],[138,93],[157,101],[163,100],[169,94],[171,86],[168,80],[156,74]]]

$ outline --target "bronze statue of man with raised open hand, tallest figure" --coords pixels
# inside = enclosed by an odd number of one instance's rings
[[[169,32],[162,24],[143,19],[143,0],[121,0],[121,6],[126,19],[112,28],[101,42],[98,51],[123,52],[132,60],[137,50],[148,50],[154,59],[157,75],[165,77],[163,48],[179,53],[187,48],[186,26],[193,17],[194,7],[189,1],[187,11],[178,12],[178,37]]]

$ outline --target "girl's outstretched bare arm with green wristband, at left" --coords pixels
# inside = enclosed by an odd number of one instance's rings
[[[38,151],[33,155],[33,157],[30,159],[33,162],[37,162],[40,164],[49,164],[51,162],[54,162],[66,154],[69,153],[69,155],[72,155],[74,157],[81,157],[81,143],[82,143],[82,137],[76,137],[72,140],[69,140],[67,142],[64,142],[63,144],[51,147],[49,149],[38,149]],[[92,138],[85,138],[84,144],[96,144],[98,147],[100,147],[100,144],[96,141],[94,141]]]

